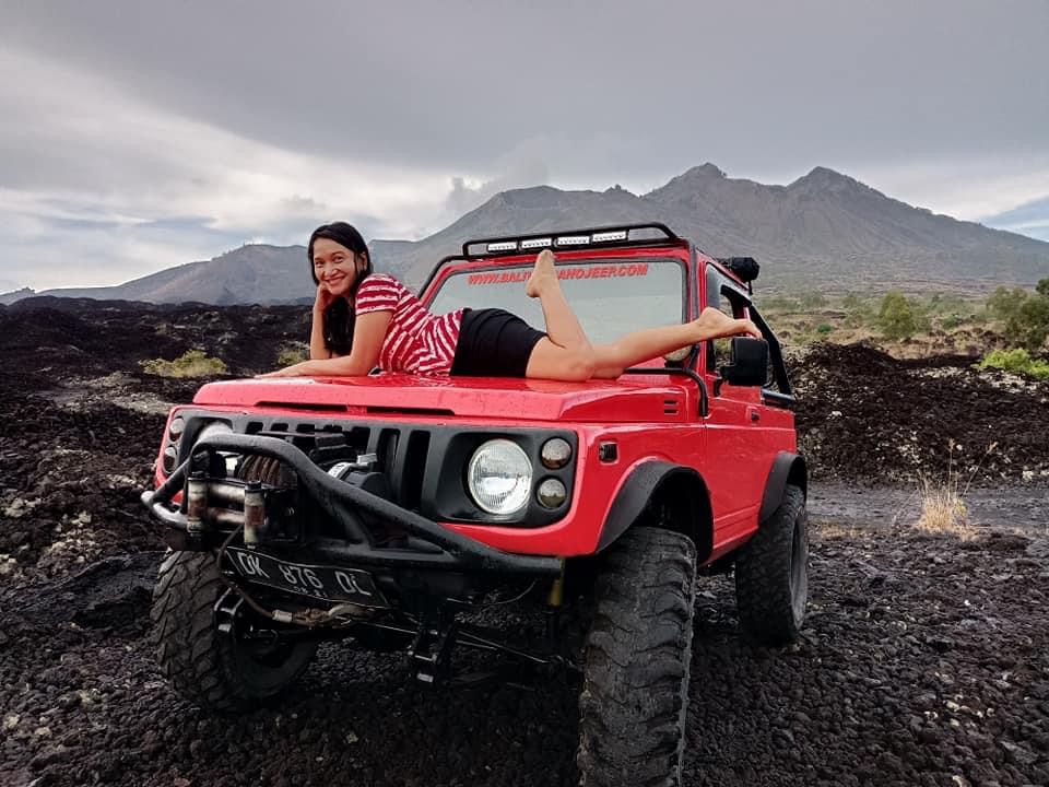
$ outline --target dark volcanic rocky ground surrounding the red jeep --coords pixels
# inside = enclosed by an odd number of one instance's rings
[[[238,719],[162,680],[138,491],[197,383],[138,361],[201,346],[247,374],[303,317],[0,309],[0,784],[574,784],[571,680],[423,692],[396,656],[333,644],[281,707]],[[752,648],[731,580],[703,579],[686,784],[1049,784],[1049,386],[970,364],[797,360],[809,620],[795,646]],[[971,483],[973,538],[912,527],[921,477]]]

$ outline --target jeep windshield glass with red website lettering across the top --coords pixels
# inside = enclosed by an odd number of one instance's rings
[[[528,266],[457,271],[440,284],[429,309],[503,308],[543,330],[538,298],[524,294]],[[601,259],[558,262],[561,286],[591,341],[681,322],[685,317],[685,268],[675,259]]]

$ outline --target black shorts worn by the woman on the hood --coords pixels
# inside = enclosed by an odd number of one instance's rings
[[[524,377],[532,350],[545,336],[504,309],[467,309],[449,374]]]

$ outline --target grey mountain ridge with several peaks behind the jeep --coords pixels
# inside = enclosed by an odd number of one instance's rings
[[[987,290],[1049,277],[1049,243],[959,221],[894,199],[829,167],[787,185],[729,177],[707,162],[644,195],[549,185],[509,189],[421,240],[369,244],[377,270],[417,286],[464,240],[659,221],[714,256],[753,256],[764,285],[824,289]],[[27,295],[177,303],[278,304],[308,301],[314,285],[303,246],[245,245],[107,287]]]

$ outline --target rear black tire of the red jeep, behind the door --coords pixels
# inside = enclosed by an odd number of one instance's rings
[[[805,620],[808,600],[805,494],[788,484],[779,508],[735,560],[735,604],[744,635],[767,647],[794,642]]]

